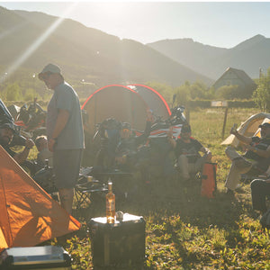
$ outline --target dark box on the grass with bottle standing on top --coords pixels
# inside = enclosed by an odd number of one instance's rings
[[[130,266],[145,259],[145,220],[125,213],[123,220],[109,224],[106,218],[89,222],[93,264],[103,266]],[[136,267],[134,268],[136,269]]]

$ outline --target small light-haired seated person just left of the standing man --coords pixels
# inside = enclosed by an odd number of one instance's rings
[[[48,140],[46,136],[39,136],[35,139],[36,147],[39,151],[37,156],[37,164],[39,168],[46,165],[45,160],[48,159],[49,166],[53,166],[53,153],[48,149]]]

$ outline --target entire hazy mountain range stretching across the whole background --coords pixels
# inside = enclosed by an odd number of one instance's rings
[[[58,28],[22,67],[40,69],[55,62],[72,79],[84,78],[99,86],[148,81],[176,86],[186,80],[212,85],[228,67],[257,78],[259,69],[266,70],[270,62],[270,39],[261,34],[230,49],[202,44],[192,38],[142,44],[40,12],[10,11],[0,6],[0,14],[2,65],[11,65],[60,20]]]

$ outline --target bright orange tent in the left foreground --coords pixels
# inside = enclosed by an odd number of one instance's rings
[[[0,146],[0,251],[32,247],[80,226]]]

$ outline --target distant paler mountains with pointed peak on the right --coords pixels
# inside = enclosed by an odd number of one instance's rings
[[[262,35],[231,49],[204,45],[192,39],[159,40],[147,45],[213,80],[217,80],[227,67],[242,69],[248,76],[257,78],[259,68],[266,71],[270,66],[270,39]]]

